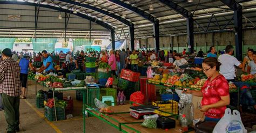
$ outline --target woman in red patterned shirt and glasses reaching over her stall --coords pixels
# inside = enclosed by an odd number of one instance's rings
[[[230,104],[228,83],[225,77],[219,73],[220,62],[217,58],[205,58],[202,66],[208,79],[201,91],[184,89],[184,92],[203,97],[200,111],[204,112],[205,121],[218,122],[225,114],[226,106]]]

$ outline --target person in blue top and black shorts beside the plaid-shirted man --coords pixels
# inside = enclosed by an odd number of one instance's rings
[[[30,70],[36,70],[31,62],[29,61],[30,56],[23,56],[21,60],[19,60],[19,67],[21,68],[21,84],[22,84],[22,99],[26,99],[25,91],[26,91],[26,83],[28,81],[28,73]]]

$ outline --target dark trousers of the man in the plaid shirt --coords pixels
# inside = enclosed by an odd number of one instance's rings
[[[19,126],[19,96],[11,97],[2,93],[4,116],[8,124],[8,131],[15,131]]]

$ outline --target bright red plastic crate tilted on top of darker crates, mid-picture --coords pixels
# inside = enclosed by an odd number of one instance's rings
[[[131,70],[122,69],[120,78],[129,80],[130,82],[138,82],[140,73]]]

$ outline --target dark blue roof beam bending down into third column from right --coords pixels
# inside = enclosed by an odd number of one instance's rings
[[[126,4],[122,1],[118,1],[118,0],[109,0],[109,2],[112,2],[114,4],[117,4],[119,6],[122,6],[123,8],[127,9],[127,10],[130,10],[136,14],[138,14],[139,16],[151,21],[151,23],[153,23],[153,29],[154,29],[154,36],[155,36],[155,48],[156,49],[159,49],[159,20],[155,17],[153,17],[151,14],[143,11],[143,10],[140,10],[138,8],[135,8],[134,6],[130,5],[130,4]],[[130,28],[131,29],[131,28]],[[134,35],[133,34],[130,34],[131,36]],[[132,44],[132,43],[131,43]]]

